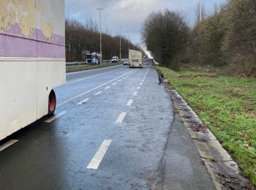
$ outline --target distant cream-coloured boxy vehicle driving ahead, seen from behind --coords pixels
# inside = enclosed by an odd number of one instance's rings
[[[143,67],[144,56],[141,51],[138,50],[129,50],[129,67]]]

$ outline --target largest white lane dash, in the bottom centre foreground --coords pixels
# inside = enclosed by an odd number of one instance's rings
[[[100,145],[97,153],[95,153],[94,158],[91,159],[91,162],[86,167],[87,169],[97,170],[100,162],[102,161],[106,151],[108,150],[112,140],[103,140],[102,145]]]

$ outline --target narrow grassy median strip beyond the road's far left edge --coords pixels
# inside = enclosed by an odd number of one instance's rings
[[[110,64],[94,64],[94,65],[88,65],[88,64],[83,64],[83,65],[71,65],[71,66],[66,66],[66,72],[76,72],[76,71],[83,71],[83,70],[88,70],[88,69],[97,69],[97,68],[102,68],[102,67],[107,67],[107,66],[115,66],[118,64],[122,64],[121,62],[119,63],[110,63]]]

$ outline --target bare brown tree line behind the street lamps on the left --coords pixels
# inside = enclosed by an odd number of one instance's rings
[[[66,26],[66,60],[83,61],[83,50],[100,52],[99,27],[91,19],[82,23],[79,20],[68,19]],[[111,36],[108,31],[102,33],[102,59],[110,60],[119,56],[120,36]],[[128,58],[128,49],[142,50],[140,45],[134,45],[126,37],[121,36],[121,57]]]

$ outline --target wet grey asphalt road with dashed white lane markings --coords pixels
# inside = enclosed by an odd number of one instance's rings
[[[0,189],[214,189],[157,72],[67,74],[56,115],[8,137]]]

